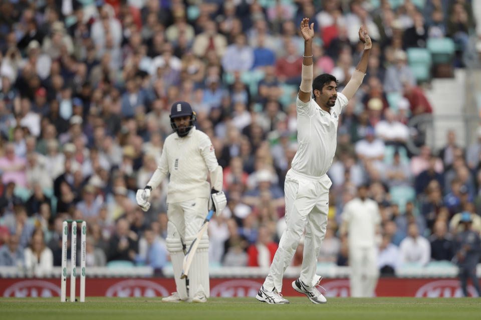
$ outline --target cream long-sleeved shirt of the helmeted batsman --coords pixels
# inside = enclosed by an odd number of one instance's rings
[[[214,147],[204,132],[193,127],[185,137],[176,132],[167,136],[157,168],[162,173],[159,181],[170,172],[167,203],[208,198],[207,173],[217,166]]]

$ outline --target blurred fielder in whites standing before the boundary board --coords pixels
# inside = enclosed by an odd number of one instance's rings
[[[357,197],[346,203],[341,215],[341,236],[347,233],[349,244],[352,297],[374,296],[379,278],[377,242],[380,242],[381,214],[377,202],[367,195],[368,186],[359,186]]]

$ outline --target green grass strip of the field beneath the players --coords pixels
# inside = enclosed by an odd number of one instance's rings
[[[0,298],[2,319],[188,320],[188,319],[480,319],[481,298],[329,298],[313,304],[288,297],[290,304],[271,305],[255,298],[210,298],[208,303],[162,303],[161,298],[87,297],[85,303],[59,298]]]

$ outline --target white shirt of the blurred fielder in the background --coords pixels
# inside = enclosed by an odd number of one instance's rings
[[[354,198],[344,206],[341,218],[347,223],[349,247],[376,245],[376,225],[381,222],[376,201]]]

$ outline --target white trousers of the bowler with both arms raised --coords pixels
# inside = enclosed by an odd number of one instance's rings
[[[274,255],[264,288],[282,291],[282,277],[291,263],[304,229],[304,255],[301,280],[313,286],[319,280],[316,275],[317,257],[326,235],[331,179],[311,177],[290,169],[284,183],[287,228],[281,236],[279,248]]]

